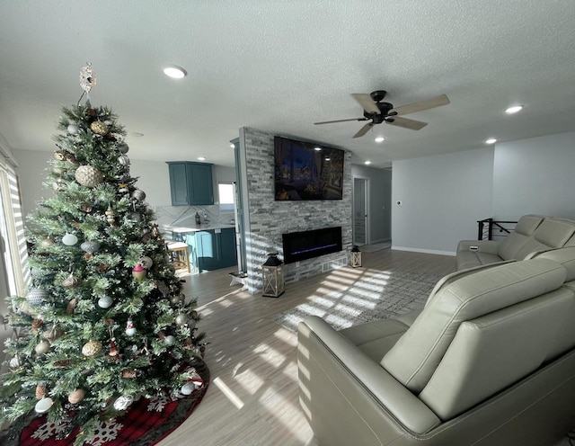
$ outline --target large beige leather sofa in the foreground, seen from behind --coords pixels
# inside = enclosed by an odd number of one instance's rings
[[[321,446],[551,446],[575,425],[575,247],[455,272],[401,317],[308,317],[297,359]]]

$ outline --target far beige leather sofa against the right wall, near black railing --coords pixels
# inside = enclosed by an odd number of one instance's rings
[[[501,241],[462,240],[457,245],[457,270],[503,260],[524,260],[529,254],[575,246],[575,221],[529,214]]]

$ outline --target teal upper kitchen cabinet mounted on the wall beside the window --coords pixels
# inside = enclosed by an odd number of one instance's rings
[[[212,165],[193,161],[171,161],[172,206],[214,204]]]

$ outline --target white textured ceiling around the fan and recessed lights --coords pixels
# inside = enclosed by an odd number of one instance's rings
[[[13,149],[53,150],[87,61],[92,103],[119,114],[134,159],[233,165],[243,126],[374,166],[572,131],[574,22],[569,0],[0,0],[0,134]],[[188,76],[164,76],[170,64]],[[451,103],[409,115],[429,122],[419,131],[314,126],[362,116],[349,94],[380,89],[395,106]],[[513,103],[524,111],[505,115]]]

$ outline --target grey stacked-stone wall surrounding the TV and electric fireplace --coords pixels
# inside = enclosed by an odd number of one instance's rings
[[[243,188],[247,287],[261,292],[261,265],[268,253],[283,259],[282,234],[322,227],[341,226],[342,251],[284,266],[286,282],[299,281],[349,263],[351,249],[351,154],[343,165],[343,199],[325,201],[274,200],[275,134],[244,127],[240,129],[240,178]],[[299,139],[297,136],[281,135]],[[320,142],[320,141],[314,141]],[[343,147],[336,147],[343,148]],[[344,149],[345,150],[345,149]],[[288,296],[289,288],[286,293]]]

